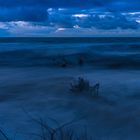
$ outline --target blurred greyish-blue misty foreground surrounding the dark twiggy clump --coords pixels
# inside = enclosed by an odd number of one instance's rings
[[[88,133],[97,139],[137,139],[140,137],[139,74],[139,71],[90,68],[1,69],[1,128],[10,137],[31,139],[28,133],[41,132],[30,114],[53,127],[56,124],[50,118],[60,125],[74,120],[69,127],[86,126]],[[100,82],[98,98],[70,92],[70,83],[79,76],[93,84]]]

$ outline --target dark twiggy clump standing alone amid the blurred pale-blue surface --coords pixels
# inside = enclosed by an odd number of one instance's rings
[[[76,83],[71,83],[70,90],[74,93],[84,93],[84,94],[89,94],[92,97],[98,97],[99,88],[100,88],[99,83],[91,86],[89,84],[89,81],[79,77]]]

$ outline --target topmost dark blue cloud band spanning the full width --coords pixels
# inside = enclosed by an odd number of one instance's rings
[[[140,9],[139,0],[0,0],[0,7],[108,7],[109,9]],[[112,6],[112,7],[110,7]],[[118,7],[117,7],[118,6]]]

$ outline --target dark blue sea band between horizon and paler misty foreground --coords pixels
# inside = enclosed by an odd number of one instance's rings
[[[0,67],[140,69],[140,38],[0,38]]]

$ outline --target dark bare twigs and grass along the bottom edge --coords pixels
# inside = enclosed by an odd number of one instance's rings
[[[40,124],[39,134],[37,133],[23,133],[26,136],[32,136],[34,140],[93,140],[92,136],[87,134],[86,128],[81,133],[77,133],[72,127],[66,127],[68,124],[60,125],[59,127],[50,127],[43,120],[38,120]],[[19,140],[11,139],[7,133],[0,129],[0,140]]]

